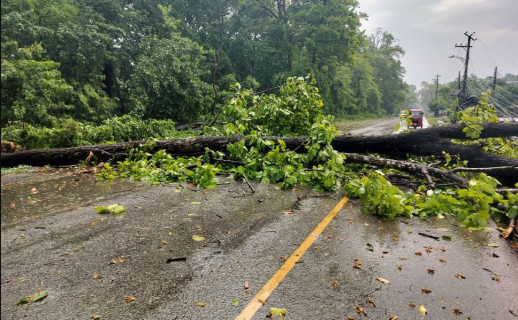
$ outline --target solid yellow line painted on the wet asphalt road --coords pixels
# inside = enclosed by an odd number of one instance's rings
[[[340,209],[347,203],[347,197],[343,197],[340,202],[336,204],[336,206],[327,214],[327,216],[320,221],[318,226],[311,232],[311,234],[302,242],[302,244],[295,250],[291,256],[284,262],[284,264],[277,270],[277,272],[273,275],[273,277],[268,280],[268,282],[259,290],[259,292],[253,297],[253,299],[248,303],[248,305],[241,311],[241,313],[236,317],[236,320],[250,320],[254,316],[254,314],[261,308],[263,304],[266,303],[270,294],[277,288],[279,283],[286,277],[288,272],[295,266],[295,263],[302,257],[304,252],[309,249],[309,247],[315,242],[318,236],[324,231],[329,222],[338,214]]]

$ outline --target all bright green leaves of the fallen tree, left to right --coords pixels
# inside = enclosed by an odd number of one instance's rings
[[[309,185],[316,190],[345,187],[349,196],[360,198],[368,214],[390,218],[452,215],[463,226],[474,229],[485,229],[490,217],[500,221],[518,214],[516,195],[497,193],[498,181],[486,174],[461,173],[469,181],[466,186],[447,183],[435,189],[429,189],[422,178],[417,181],[415,193],[404,193],[385,177],[385,172],[393,173],[394,169],[362,170],[357,164],[347,163],[346,157],[331,146],[337,130],[330,124],[330,117],[323,116],[322,100],[313,83],[310,77],[288,78],[277,96],[238,90],[223,110],[226,124],[210,131],[229,136],[244,134],[251,138],[248,144],[242,140],[229,144],[227,152],[206,150],[200,157],[175,158],[163,150],[149,153],[151,142],[132,150],[116,167],[106,164],[100,177],[129,177],[150,183],[186,181],[198,188],[213,188],[218,183],[218,174],[230,174],[235,179],[275,183],[282,189],[296,185]],[[479,120],[492,117],[491,105],[475,108],[480,118],[471,110],[459,115],[462,121],[472,122],[466,127],[468,137],[473,136],[472,128],[477,130]],[[296,117],[287,117],[294,113]],[[287,150],[282,140],[264,139],[266,135],[280,134],[308,134],[307,141],[299,147],[305,152]],[[444,154],[440,168],[448,170],[459,164],[463,163]]]

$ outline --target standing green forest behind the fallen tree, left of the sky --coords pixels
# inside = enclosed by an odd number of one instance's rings
[[[354,0],[7,0],[1,9],[2,128],[208,121],[236,83],[268,92],[308,74],[326,114],[392,115],[412,96],[403,48],[388,32],[364,34]]]

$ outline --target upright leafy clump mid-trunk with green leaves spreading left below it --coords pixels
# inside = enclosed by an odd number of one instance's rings
[[[238,91],[222,112],[227,124],[209,130],[229,136],[245,134],[253,138],[249,145],[241,141],[229,144],[226,155],[207,150],[205,155],[191,158],[174,158],[164,151],[150,154],[146,152],[149,146],[144,146],[133,150],[116,169],[107,165],[101,177],[131,177],[151,183],[187,181],[211,188],[216,186],[216,173],[227,172],[284,189],[299,184],[337,190],[347,176],[345,157],[331,147],[338,132],[330,124],[331,118],[323,116],[322,100],[312,83],[309,77],[289,78],[279,96]],[[261,138],[283,134],[309,134],[301,146],[307,152],[286,150],[282,140]]]

